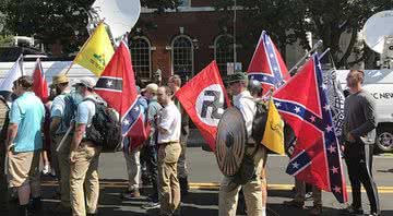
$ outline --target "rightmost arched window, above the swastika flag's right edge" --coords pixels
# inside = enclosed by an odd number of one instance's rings
[[[218,35],[214,40],[214,59],[217,62],[222,76],[227,75],[227,63],[234,62],[234,37]]]

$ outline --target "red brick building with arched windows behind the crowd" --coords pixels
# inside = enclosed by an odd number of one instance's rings
[[[157,69],[162,70],[164,81],[182,72],[191,77],[212,60],[216,60],[222,75],[226,76],[227,62],[234,62],[234,11],[216,11],[210,2],[183,0],[177,11],[160,15],[153,10],[142,10],[139,22],[154,23],[155,27],[135,27],[132,32],[130,49],[140,79],[151,80]],[[242,31],[241,15],[245,12],[237,12],[237,32]],[[223,25],[223,20],[229,24]],[[247,70],[254,47],[246,50],[237,45],[236,49],[237,62]]]

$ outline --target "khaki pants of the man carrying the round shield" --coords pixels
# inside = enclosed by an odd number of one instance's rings
[[[264,155],[265,155],[265,149],[259,147],[254,155],[257,178],[251,179],[249,182],[242,185],[249,216],[262,215],[261,170],[262,170]],[[229,188],[231,188],[231,185],[229,184],[230,184],[230,178],[224,177],[219,187],[219,197],[218,197],[219,216],[236,216],[238,194],[241,185],[238,185],[229,191]]]

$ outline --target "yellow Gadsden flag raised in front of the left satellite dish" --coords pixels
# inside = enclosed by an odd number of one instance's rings
[[[99,76],[114,56],[114,47],[110,43],[104,23],[100,23],[74,59],[74,63],[88,69]]]

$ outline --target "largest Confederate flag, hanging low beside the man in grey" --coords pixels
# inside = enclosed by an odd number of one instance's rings
[[[347,201],[347,192],[326,92],[318,55],[313,55],[273,97],[297,136],[287,173],[333,192],[343,203]]]

